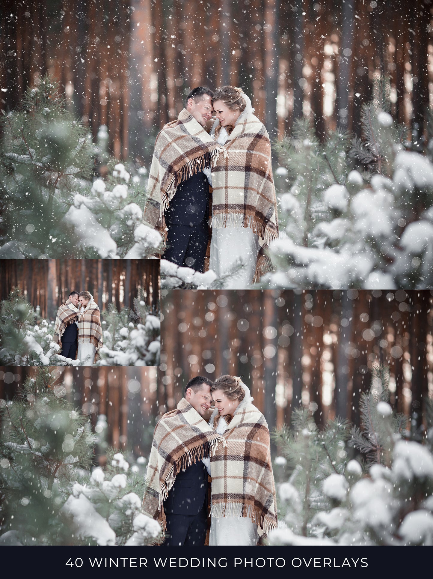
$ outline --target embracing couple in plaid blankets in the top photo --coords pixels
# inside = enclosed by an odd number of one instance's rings
[[[203,272],[209,222],[209,267],[227,276],[227,289],[271,269],[265,250],[278,237],[271,145],[240,88],[190,92],[156,137],[148,191],[143,221],[162,234],[168,261]]]

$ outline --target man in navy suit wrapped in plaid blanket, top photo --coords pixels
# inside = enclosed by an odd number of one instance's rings
[[[164,237],[168,259],[179,266],[204,270],[208,244],[209,184],[204,168],[214,166],[225,149],[204,129],[214,111],[214,93],[193,89],[177,120],[157,135],[149,174],[145,225]]]

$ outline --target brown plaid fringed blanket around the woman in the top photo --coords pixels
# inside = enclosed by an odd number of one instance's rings
[[[258,278],[271,269],[264,250],[278,237],[269,135],[250,114],[234,126],[225,148],[228,156],[220,156],[212,168],[211,227],[249,227],[258,234]]]

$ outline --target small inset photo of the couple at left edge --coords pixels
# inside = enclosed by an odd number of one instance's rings
[[[1,261],[0,364],[157,366],[159,260]]]

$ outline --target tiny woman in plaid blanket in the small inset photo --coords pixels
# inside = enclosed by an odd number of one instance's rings
[[[84,366],[94,364],[96,351],[102,347],[101,312],[93,295],[88,291],[79,294],[78,360]]]

